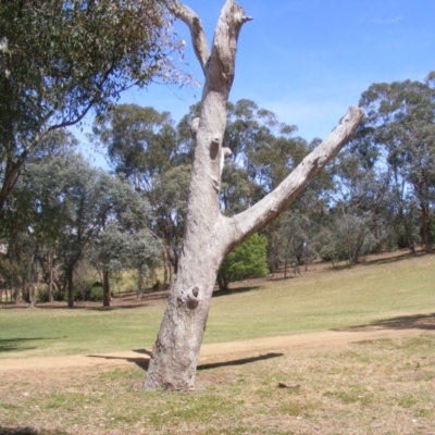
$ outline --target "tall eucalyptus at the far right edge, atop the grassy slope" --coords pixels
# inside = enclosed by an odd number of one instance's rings
[[[370,147],[381,147],[390,171],[391,198],[413,250],[410,209],[421,214],[424,249],[432,249],[431,223],[435,200],[435,73],[424,83],[394,82],[370,86],[360,105],[366,111],[362,128]],[[412,194],[412,195],[410,195]]]

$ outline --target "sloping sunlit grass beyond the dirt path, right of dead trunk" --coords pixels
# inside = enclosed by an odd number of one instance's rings
[[[206,341],[368,324],[435,311],[435,257],[326,270],[213,300]]]

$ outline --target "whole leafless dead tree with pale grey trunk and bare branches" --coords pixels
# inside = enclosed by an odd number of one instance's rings
[[[211,51],[201,21],[189,8],[175,3],[172,12],[190,28],[206,84],[196,138],[184,245],[177,277],[152,351],[146,389],[188,389],[194,386],[200,346],[219,266],[225,254],[288,207],[308,182],[349,140],[363,112],[350,108],[339,126],[271,194],[245,212],[224,217],[220,212],[222,139],[226,103],[235,73],[237,38],[250,17],[226,0]]]

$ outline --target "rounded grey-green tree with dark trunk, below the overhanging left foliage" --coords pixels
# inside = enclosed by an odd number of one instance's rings
[[[54,250],[62,263],[69,307],[74,306],[74,269],[108,213],[107,177],[67,152],[29,164],[14,195],[20,207],[11,217],[22,222],[39,253]]]

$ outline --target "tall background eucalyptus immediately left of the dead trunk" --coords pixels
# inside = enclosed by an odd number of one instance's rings
[[[182,124],[183,125],[183,124]],[[169,112],[120,104],[94,124],[94,140],[107,147],[115,174],[150,202],[153,232],[164,241],[165,284],[177,268],[190,177],[188,145],[183,146]],[[171,268],[172,264],[172,268]]]

